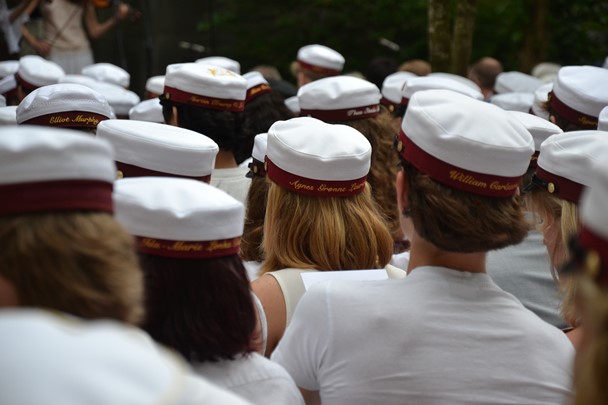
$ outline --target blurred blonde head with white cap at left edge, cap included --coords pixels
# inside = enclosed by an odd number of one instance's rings
[[[137,322],[132,241],[112,217],[116,173],[105,141],[39,126],[0,139],[2,276],[17,305]]]

